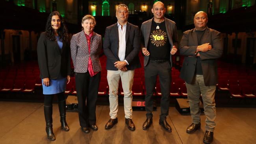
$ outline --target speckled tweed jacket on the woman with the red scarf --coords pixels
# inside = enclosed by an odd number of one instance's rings
[[[93,63],[93,71],[100,72],[100,50],[102,47],[101,35],[93,32],[91,37],[91,52],[89,55],[88,42],[82,30],[72,36],[70,42],[71,57],[74,64],[74,72],[85,73],[88,70],[89,56]]]

